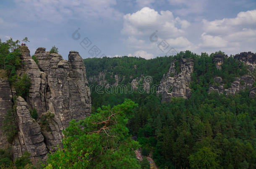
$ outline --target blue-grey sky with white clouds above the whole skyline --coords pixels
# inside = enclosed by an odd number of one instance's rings
[[[1,0],[0,38],[63,58],[256,52],[255,0]]]

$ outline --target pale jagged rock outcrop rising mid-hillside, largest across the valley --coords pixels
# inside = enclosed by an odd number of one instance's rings
[[[191,96],[191,73],[194,69],[191,58],[183,58],[179,62],[179,71],[175,61],[172,61],[169,71],[163,76],[157,93],[162,93],[162,102],[168,102],[172,97],[189,98]]]

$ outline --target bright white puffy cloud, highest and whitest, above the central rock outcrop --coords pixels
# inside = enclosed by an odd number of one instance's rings
[[[169,10],[158,13],[148,7],[126,14],[123,19],[122,33],[137,37],[150,36],[155,30],[165,38],[178,37],[185,34],[184,29],[189,25],[188,21],[175,18]]]

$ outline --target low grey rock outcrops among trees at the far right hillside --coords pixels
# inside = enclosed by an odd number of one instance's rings
[[[245,88],[248,88],[249,91],[251,92],[250,95],[251,96],[255,95],[255,92],[254,92],[255,89],[253,88],[254,78],[249,75],[244,75],[244,76],[241,76],[240,78],[239,77],[235,78],[235,81],[231,84],[231,87],[227,89],[224,89],[222,78],[215,77],[214,82],[215,84],[209,87],[208,93],[211,93],[212,91],[216,91],[219,94],[225,93],[227,95],[229,94],[234,95],[235,93],[239,91],[244,91]]]

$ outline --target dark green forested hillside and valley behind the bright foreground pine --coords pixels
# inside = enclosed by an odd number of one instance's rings
[[[216,55],[224,58],[220,69],[214,62]],[[84,63],[88,78],[106,72],[109,75],[105,80],[113,84],[115,74],[132,76],[120,83],[131,88],[132,79],[141,74],[152,76],[150,86],[159,84],[172,61],[176,71],[180,71],[178,61],[182,58],[193,60],[190,98],[173,97],[170,103],[162,103],[161,94],[154,92],[120,93],[114,86],[113,93],[106,93],[104,87],[102,92],[92,87],[92,111],[101,105],[120,104],[125,98],[138,103],[128,121],[129,133],[138,137],[142,154],[152,155],[159,168],[255,168],[256,99],[250,96],[251,89],[246,87],[234,95],[209,91],[210,86],[220,85],[214,77],[222,78],[224,90],[232,88],[238,77],[250,75],[255,79],[255,69],[251,70],[246,63],[221,51],[211,55],[185,51],[150,60],[126,56],[88,58]],[[255,87],[254,80],[252,88]]]

